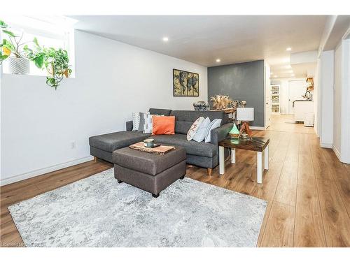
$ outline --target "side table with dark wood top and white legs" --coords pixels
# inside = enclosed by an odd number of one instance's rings
[[[257,152],[257,182],[262,183],[262,173],[269,169],[269,138],[253,137],[251,139],[225,138],[219,145],[219,173],[225,173],[224,148],[231,149],[231,163],[236,163],[236,148]]]

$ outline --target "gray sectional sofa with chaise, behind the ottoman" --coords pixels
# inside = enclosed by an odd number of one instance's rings
[[[223,111],[188,111],[188,110],[165,110],[151,108],[149,112],[153,115],[173,115],[175,116],[175,134],[151,136],[151,133],[132,131],[132,121],[126,123],[126,131],[107,133],[89,138],[90,154],[99,159],[113,162],[113,151],[123,147],[128,147],[134,143],[154,138],[156,143],[165,145],[177,145],[185,148],[186,161],[189,164],[211,169],[218,166],[218,142],[228,136],[233,124],[228,123],[228,116]],[[221,126],[211,131],[211,143],[188,141],[186,134],[190,126],[198,117],[209,117],[214,120],[222,119]]]

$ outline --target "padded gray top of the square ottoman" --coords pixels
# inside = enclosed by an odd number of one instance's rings
[[[162,155],[141,152],[129,147],[113,152],[113,163],[148,175],[157,175],[185,159],[186,150],[182,147],[176,147]]]

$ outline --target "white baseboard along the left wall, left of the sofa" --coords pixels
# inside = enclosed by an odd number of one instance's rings
[[[75,166],[75,165],[78,165],[78,163],[84,163],[84,162],[87,162],[87,161],[91,161],[92,159],[94,159],[94,157],[92,157],[92,156],[83,157],[81,159],[68,161],[66,163],[59,163],[59,164],[57,164],[55,166],[49,166],[47,168],[41,168],[41,169],[38,169],[38,170],[34,170],[34,171],[29,172],[29,173],[24,173],[24,174],[20,174],[20,175],[14,175],[13,177],[7,177],[5,179],[0,180],[0,186],[4,186],[6,184],[12,184],[14,182],[18,182],[18,181],[21,181],[21,180],[26,180],[28,178],[36,177],[38,175],[43,175],[45,173],[50,173],[52,171],[56,171],[56,170],[59,170],[59,169],[62,169],[62,168],[68,168],[69,166]]]

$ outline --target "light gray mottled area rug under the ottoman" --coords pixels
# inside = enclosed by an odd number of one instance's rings
[[[27,247],[255,247],[266,205],[187,177],[153,198],[110,169],[8,209]]]

